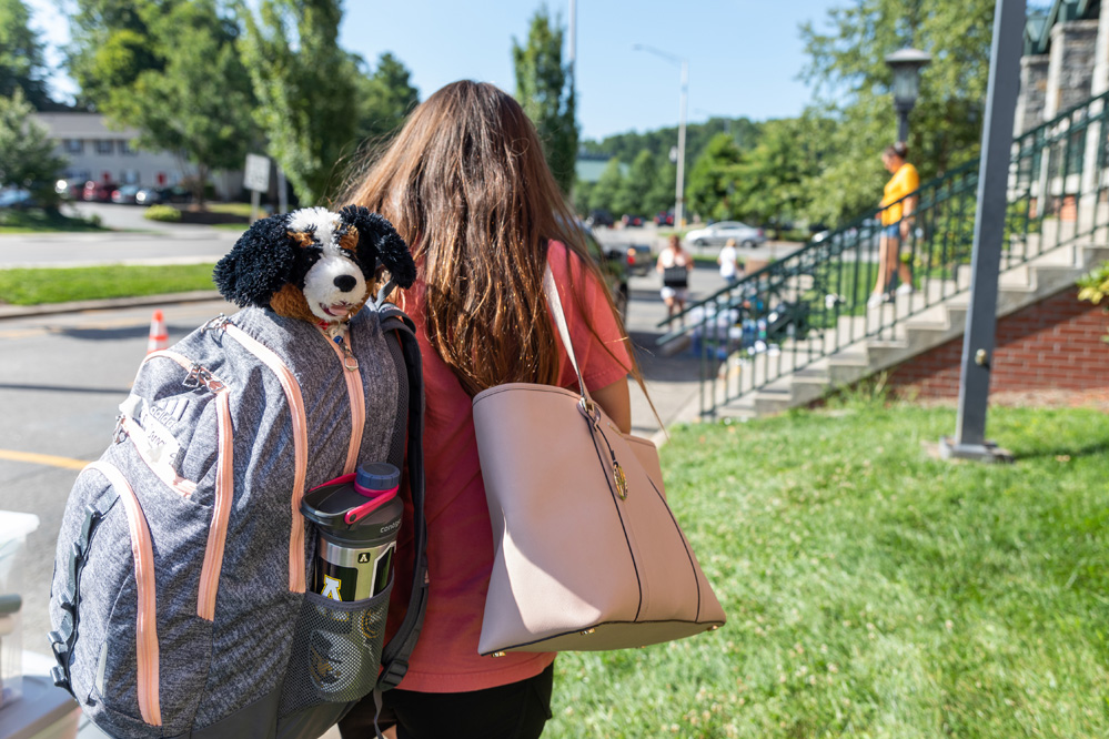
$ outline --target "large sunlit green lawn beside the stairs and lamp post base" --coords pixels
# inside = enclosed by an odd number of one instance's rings
[[[544,737],[1109,736],[1109,423],[847,404],[678,429],[668,498],[720,630],[556,660]]]

